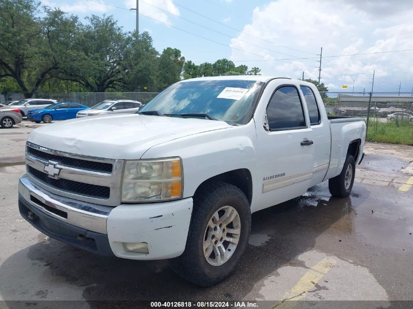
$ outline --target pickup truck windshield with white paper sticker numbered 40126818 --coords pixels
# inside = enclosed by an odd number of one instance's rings
[[[161,92],[140,111],[164,115],[208,114],[231,123],[244,123],[264,82],[215,80],[179,82]]]

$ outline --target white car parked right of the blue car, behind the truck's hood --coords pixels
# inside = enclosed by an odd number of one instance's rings
[[[101,103],[97,103],[90,109],[78,112],[76,118],[106,114],[135,113],[141,106],[142,103],[133,100],[105,100]]]

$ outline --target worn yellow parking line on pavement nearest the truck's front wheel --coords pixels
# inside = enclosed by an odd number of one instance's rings
[[[334,265],[336,265],[336,261],[330,258],[325,258],[318,262],[304,274],[294,288],[284,294],[284,301],[303,299],[308,291],[314,288],[324,275],[334,267]],[[286,305],[284,301],[279,305]]]

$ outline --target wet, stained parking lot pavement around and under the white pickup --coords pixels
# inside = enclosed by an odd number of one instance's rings
[[[413,306],[400,303],[413,301],[411,146],[366,144],[367,156],[348,198],[331,197],[324,182],[254,213],[249,246],[235,273],[200,288],[177,276],[168,261],[100,257],[48,240],[25,222],[17,207],[17,184],[31,130],[24,124],[0,129],[4,308],[50,308],[51,301],[60,300],[82,301],[74,303],[79,308],[138,300],[261,301],[260,308],[300,308],[286,300],[311,301],[311,308],[339,308],[344,301],[351,301],[348,308]]]

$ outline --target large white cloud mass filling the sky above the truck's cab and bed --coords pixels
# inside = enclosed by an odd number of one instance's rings
[[[242,30],[266,41],[241,33],[231,40],[231,46],[249,53],[233,49],[230,58],[236,61],[315,57],[286,60],[288,63],[251,61],[245,64],[250,67],[259,66],[261,73],[266,75],[298,78],[304,71],[304,78],[318,79],[319,63],[315,54],[320,53],[321,46],[323,56],[413,49],[413,6],[409,1],[399,2],[400,7],[393,8],[396,3],[391,2],[390,5],[390,1],[387,0],[331,0],[328,5],[327,0],[273,1],[265,6],[256,7],[252,20]],[[280,45],[306,51],[312,55]],[[402,88],[405,81],[406,87],[411,89],[413,51],[323,57],[322,82],[335,88],[346,83],[352,85],[355,80],[355,89],[363,91],[363,88],[371,87],[369,82],[373,69],[377,79],[374,82],[376,90],[393,90],[393,85],[386,83],[387,80],[400,80]]]

